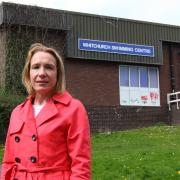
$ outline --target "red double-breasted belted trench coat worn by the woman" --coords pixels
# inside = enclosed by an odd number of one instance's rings
[[[31,102],[11,114],[1,180],[90,180],[90,128],[81,102],[57,93],[36,118]]]

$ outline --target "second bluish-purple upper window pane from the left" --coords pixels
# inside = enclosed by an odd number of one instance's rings
[[[130,86],[139,87],[138,67],[130,67]]]

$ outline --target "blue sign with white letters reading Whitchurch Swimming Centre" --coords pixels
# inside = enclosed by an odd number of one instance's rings
[[[78,48],[82,51],[96,51],[154,57],[154,46],[147,45],[79,39]]]

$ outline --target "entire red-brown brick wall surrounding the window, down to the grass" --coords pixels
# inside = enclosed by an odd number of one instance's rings
[[[168,124],[167,93],[170,92],[169,51],[165,46],[160,67],[160,107],[119,105],[119,63],[66,59],[67,89],[86,106],[92,131],[113,131]]]

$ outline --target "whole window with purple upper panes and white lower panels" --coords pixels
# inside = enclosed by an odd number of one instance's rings
[[[120,65],[120,104],[160,106],[157,67]]]

